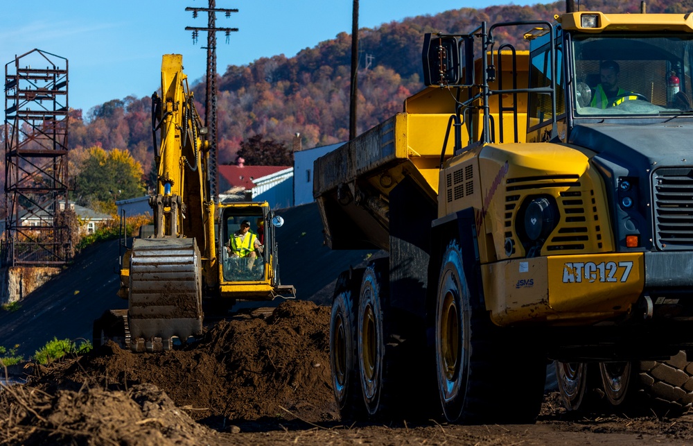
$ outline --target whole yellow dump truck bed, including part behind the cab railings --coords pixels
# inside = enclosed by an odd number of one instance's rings
[[[517,56],[516,71],[512,71],[511,53],[502,52],[503,69],[499,69],[498,79],[502,78],[505,85],[512,85],[513,76],[527,76],[529,53],[518,51]],[[480,71],[481,64],[476,65]],[[498,84],[498,81],[493,83],[493,87]],[[417,204],[437,207],[446,129],[450,116],[455,114],[456,99],[464,99],[456,96],[459,96],[456,89],[423,89],[407,98],[403,113],[315,161],[313,195],[320,208],[328,246],[332,249],[389,250],[391,194],[405,179],[413,185],[401,199],[408,200],[412,188],[418,189]],[[496,96],[491,97],[489,111],[495,123],[495,141],[502,141],[504,135],[507,142],[514,135],[524,140],[527,131],[525,96],[507,95],[502,104]],[[512,105],[516,107],[514,112]],[[502,114],[499,109],[503,110]],[[463,144],[478,141],[483,116],[482,110],[473,110],[460,128]],[[451,128],[445,160],[453,155],[453,141]]]

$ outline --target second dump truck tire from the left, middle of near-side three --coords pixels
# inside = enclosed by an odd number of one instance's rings
[[[385,418],[395,406],[392,388],[395,366],[385,351],[388,292],[387,262],[369,264],[361,281],[357,332],[361,390],[371,418]]]

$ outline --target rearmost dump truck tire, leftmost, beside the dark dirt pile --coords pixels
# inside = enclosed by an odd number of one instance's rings
[[[330,317],[330,366],[335,402],[342,420],[357,420],[365,415],[361,393],[356,343],[358,299],[351,290],[335,295]]]

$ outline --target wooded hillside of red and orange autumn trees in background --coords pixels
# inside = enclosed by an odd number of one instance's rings
[[[579,10],[640,12],[640,0],[582,0]],[[423,87],[423,33],[464,33],[482,21],[553,20],[565,2],[547,5],[461,8],[360,30],[358,131],[362,132],[402,110],[404,99]],[[693,0],[650,0],[647,12],[693,10]],[[505,37],[504,37],[505,38]],[[271,44],[271,40],[267,40]],[[525,42],[516,40],[518,48]],[[306,48],[293,57],[275,55],[249,65],[227,67],[218,79],[218,160],[234,162],[241,141],[254,135],[291,146],[299,132],[304,148],[345,141],[349,135],[349,61],[351,35]],[[219,65],[223,60],[218,61]],[[152,78],[158,76],[151,74]],[[193,87],[198,110],[204,112],[204,83]],[[73,110],[71,148],[127,148],[145,173],[152,162],[149,97],[114,99],[87,113]],[[71,171],[71,174],[76,173]]]

